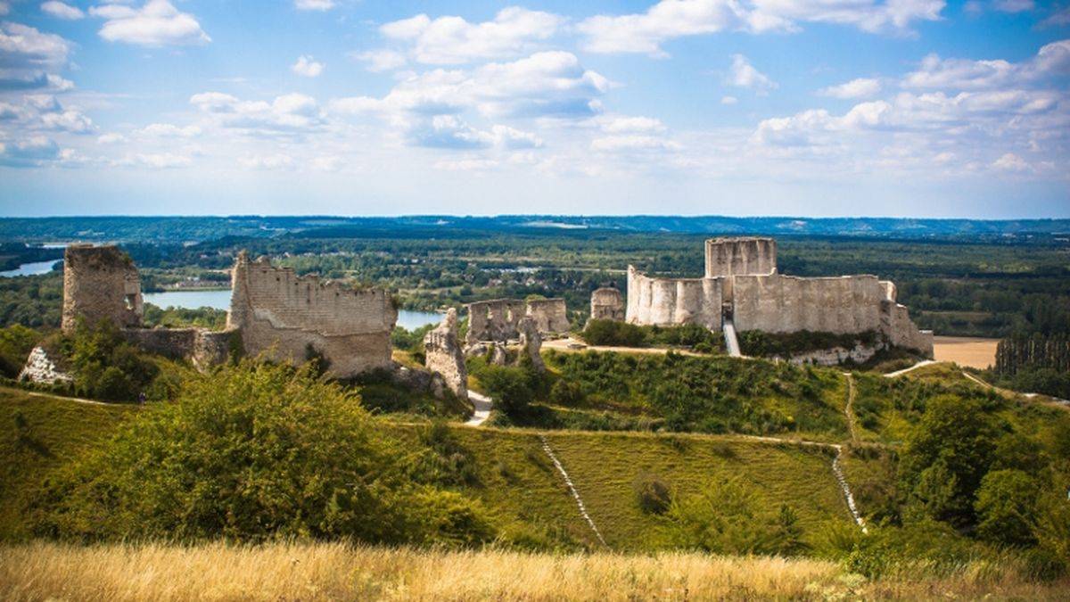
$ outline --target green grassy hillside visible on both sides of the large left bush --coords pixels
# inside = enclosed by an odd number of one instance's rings
[[[136,407],[94,405],[0,389],[0,539],[25,535],[19,500],[50,468],[103,440]],[[16,417],[24,426],[16,426]],[[421,439],[426,426],[389,424],[396,435]],[[531,431],[454,427],[471,479],[458,487],[479,499],[505,541],[530,548],[597,547],[564,481]],[[786,502],[806,529],[823,521],[847,521],[846,507],[821,450],[733,437],[556,432],[547,435],[587,510],[620,550],[649,550],[659,520],[643,513],[633,482],[655,475],[679,493],[707,479],[743,476],[769,503]]]

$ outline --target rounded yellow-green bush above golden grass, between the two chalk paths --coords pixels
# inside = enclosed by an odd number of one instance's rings
[[[674,499],[664,514],[674,547],[714,554],[801,552],[802,528],[790,506],[770,506],[738,478],[709,481],[698,494]]]

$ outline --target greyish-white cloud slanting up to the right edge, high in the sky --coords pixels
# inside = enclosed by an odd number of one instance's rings
[[[1046,44],[1037,56],[1012,63],[1006,60],[941,59],[929,55],[906,75],[906,88],[985,90],[1023,86],[1070,73],[1070,40]]]

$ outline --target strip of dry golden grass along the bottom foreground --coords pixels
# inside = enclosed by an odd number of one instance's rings
[[[1068,584],[965,567],[868,582],[820,560],[428,552],[342,543],[0,547],[3,600],[1057,599]]]

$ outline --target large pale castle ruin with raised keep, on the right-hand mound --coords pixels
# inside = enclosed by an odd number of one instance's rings
[[[777,244],[769,238],[706,241],[701,279],[647,276],[628,267],[625,319],[637,325],[697,323],[721,330],[884,334],[898,347],[932,356],[932,332],[920,331],[896,286],[876,276],[798,277],[777,273]]]

